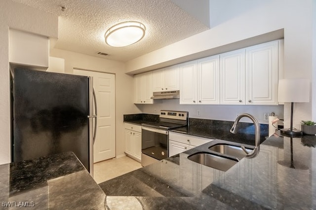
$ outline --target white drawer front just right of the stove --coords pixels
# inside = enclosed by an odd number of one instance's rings
[[[211,141],[211,139],[195,137],[195,136],[186,135],[186,134],[179,134],[175,132],[169,132],[169,140],[174,140],[180,143],[185,143],[185,144],[195,145],[195,146]]]

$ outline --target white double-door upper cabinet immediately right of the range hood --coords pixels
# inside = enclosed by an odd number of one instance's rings
[[[219,104],[219,55],[180,66],[180,104]]]

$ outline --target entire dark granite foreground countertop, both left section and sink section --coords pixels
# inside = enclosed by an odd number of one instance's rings
[[[260,145],[258,156],[226,172],[188,159],[219,142],[99,185],[73,153],[3,164],[1,202],[35,209],[316,209],[315,136],[277,132]]]

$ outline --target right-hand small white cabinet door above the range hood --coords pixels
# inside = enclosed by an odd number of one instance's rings
[[[165,90],[179,90],[179,66],[165,69]]]

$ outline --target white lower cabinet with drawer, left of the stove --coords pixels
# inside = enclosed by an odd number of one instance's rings
[[[142,127],[130,123],[124,123],[125,127],[125,153],[141,161],[142,155]]]

